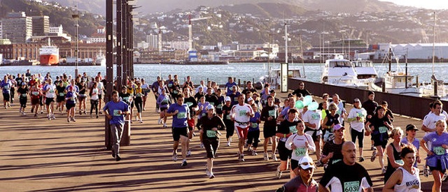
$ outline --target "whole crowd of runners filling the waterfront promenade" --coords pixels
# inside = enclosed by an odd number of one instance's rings
[[[226,147],[237,146],[235,161],[245,161],[245,154],[258,153],[262,153],[263,161],[279,161],[276,178],[288,172],[291,180],[278,191],[373,191],[369,173],[356,163],[365,161],[364,143],[370,144],[370,161],[378,159],[384,175],[383,191],[420,191],[419,170],[424,177],[432,175],[433,191],[442,191],[442,181],[447,179],[448,114],[440,101],[430,103],[421,126],[409,124],[400,128],[393,126],[388,103],[374,101],[374,92],[369,92],[364,102],[354,99],[353,108],[347,112],[337,94],[323,94],[320,102],[314,101],[304,89],[304,82],[282,102],[269,84],[263,84],[261,90],[250,81],[239,87],[229,77],[225,87],[220,88],[216,82],[201,81],[197,85],[190,76],[181,82],[177,75],[169,75],[167,80],[157,77],[151,84],[144,79],[128,79],[121,90],[116,90],[118,86],[114,84],[113,101],[103,108],[104,84],[101,73],[95,77],[84,73],[53,78],[50,73],[42,76],[27,71],[17,76],[5,75],[0,87],[4,108],[18,98],[20,114],[25,115],[29,98],[31,114],[38,117],[45,112],[49,120],[65,113],[68,122],[76,121],[77,113],[87,115],[85,103],[90,99],[90,117],[98,118],[104,111],[111,124],[116,125],[112,156],[117,161],[121,159],[118,143],[124,120],[132,123],[135,117],[135,121],[143,123],[141,113],[153,92],[155,111],[160,114],[158,124],[172,128],[172,160],[178,160],[181,145],[181,167],[188,166],[190,141],[196,132],[207,154],[206,174],[211,179],[215,177],[214,158],[219,147],[223,147],[220,141],[224,135]],[[172,126],[167,125],[167,119],[172,119]],[[426,132],[423,138],[416,138],[418,130]],[[346,138],[346,131],[350,131],[351,138]],[[371,142],[365,142],[365,138]],[[419,154],[420,147],[425,154]],[[310,154],[316,156],[316,161]],[[421,161],[424,166],[417,168]],[[313,173],[319,167],[325,173],[317,183]]]

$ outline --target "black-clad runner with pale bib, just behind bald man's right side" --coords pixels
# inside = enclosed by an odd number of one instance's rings
[[[372,158],[370,161],[375,161],[375,158],[378,156],[378,162],[381,168],[381,173],[384,174],[386,169],[384,168],[384,149],[386,149],[387,140],[388,140],[388,131],[390,131],[393,126],[391,121],[389,121],[388,117],[385,116],[386,110],[384,110],[383,106],[378,106],[375,111],[375,115],[370,119],[370,121],[365,124],[367,131],[372,134],[372,140],[377,150],[372,152]]]

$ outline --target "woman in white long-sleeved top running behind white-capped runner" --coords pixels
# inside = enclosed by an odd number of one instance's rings
[[[305,125],[303,121],[297,121],[297,133],[291,135],[285,142],[285,147],[291,150],[291,170],[290,178],[293,179],[297,176],[297,168],[300,164],[301,158],[309,158],[309,152],[316,152],[316,145],[314,145],[311,135],[304,133]],[[313,162],[311,160],[311,162]]]

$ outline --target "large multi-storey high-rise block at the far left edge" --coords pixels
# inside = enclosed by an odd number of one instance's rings
[[[8,38],[12,43],[27,43],[33,36],[33,20],[25,12],[8,13],[1,22],[2,38]]]

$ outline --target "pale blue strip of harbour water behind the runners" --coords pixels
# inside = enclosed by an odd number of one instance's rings
[[[161,75],[164,79],[169,74],[179,75],[179,79],[184,80],[187,75],[192,77],[193,82],[199,84],[200,80],[213,80],[218,84],[225,84],[228,77],[237,77],[241,82],[248,80],[255,80],[258,82],[260,77],[267,75],[268,63],[230,63],[228,65],[168,65],[168,64],[136,64],[134,65],[134,76],[144,77],[147,82],[153,82],[158,75]],[[269,64],[271,68],[279,68],[279,64]],[[304,67],[304,73],[307,76],[307,80],[313,82],[319,82],[321,73],[323,70],[323,64],[290,64],[290,68]],[[379,77],[382,77],[387,71],[386,64],[374,64],[377,69]],[[400,65],[401,68],[405,68],[405,64]],[[17,75],[18,73],[25,73],[27,69],[31,73],[45,73],[50,72],[52,76],[62,75],[74,75],[76,66],[1,66],[0,74],[6,73]],[[392,71],[397,68],[396,64],[392,65]],[[411,75],[419,75],[420,82],[430,82],[430,76],[432,75],[432,64],[408,64],[407,71]],[[78,66],[79,73],[87,73],[89,76],[97,75],[101,72],[102,75],[106,75],[106,68],[104,66]],[[114,74],[116,73],[116,67],[114,67]],[[434,66],[435,76],[439,80],[448,80],[448,63],[435,64]]]

